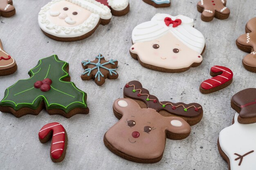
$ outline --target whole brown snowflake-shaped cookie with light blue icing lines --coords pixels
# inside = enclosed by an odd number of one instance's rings
[[[105,79],[117,79],[118,74],[116,68],[118,65],[117,60],[110,59],[106,61],[104,56],[99,54],[95,57],[96,59],[92,62],[86,60],[82,62],[83,69],[85,72],[82,73],[82,80],[94,79],[95,83],[101,86],[105,83]]]

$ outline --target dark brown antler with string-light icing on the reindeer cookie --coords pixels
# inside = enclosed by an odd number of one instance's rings
[[[124,86],[124,97],[134,99],[141,108],[153,108],[162,116],[181,117],[191,126],[200,122],[203,116],[203,109],[200,104],[172,103],[168,101],[160,102],[157,97],[150,95],[148,90],[142,88],[141,83],[138,81],[128,82]]]

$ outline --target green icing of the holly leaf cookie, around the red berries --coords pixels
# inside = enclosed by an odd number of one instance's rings
[[[43,101],[47,109],[62,109],[65,113],[74,108],[87,108],[86,93],[79,90],[73,82],[63,79],[70,77],[66,72],[67,62],[57,55],[39,60],[37,66],[29,71],[29,79],[21,79],[5,91],[0,106],[11,106],[15,110],[23,107],[38,108]],[[43,92],[34,83],[45,78],[52,79],[51,89]]]

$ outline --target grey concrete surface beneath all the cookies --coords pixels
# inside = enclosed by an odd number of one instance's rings
[[[46,37],[37,23],[37,14],[49,0],[14,0],[16,15],[0,17],[0,38],[4,49],[15,58],[18,71],[0,77],[0,99],[7,87],[18,79],[28,78],[29,69],[43,57],[57,54],[70,63],[70,76],[78,88],[88,94],[88,115],[66,119],[48,115],[43,110],[38,116],[16,118],[10,113],[0,114],[0,169],[1,170],[227,170],[227,163],[219,155],[217,139],[220,130],[230,126],[235,111],[231,97],[240,90],[256,87],[255,73],[245,70],[242,59],[247,54],[235,44],[245,33],[245,24],[256,16],[254,0],[229,0],[231,15],[227,20],[202,22],[196,9],[198,0],[171,0],[171,7],[156,9],[142,2],[130,0],[130,13],[113,17],[110,24],[99,26],[86,40],[57,42]],[[129,54],[132,29],[150,20],[155,13],[184,14],[195,20],[195,28],[206,38],[204,60],[197,68],[184,73],[160,73],[142,67]],[[93,80],[82,81],[81,61],[94,60],[102,53],[119,61],[119,78],[106,80],[99,87]],[[199,86],[210,77],[213,65],[227,66],[234,72],[233,83],[221,91],[202,95]],[[140,164],[122,159],[103,144],[104,133],[117,122],[112,112],[115,99],[123,97],[123,87],[131,80],[139,80],[159,100],[198,102],[203,106],[202,121],[192,126],[191,135],[181,141],[166,140],[163,159],[155,164]],[[38,132],[45,124],[58,121],[69,138],[67,154],[61,163],[53,163],[49,156],[50,143],[41,144]]]

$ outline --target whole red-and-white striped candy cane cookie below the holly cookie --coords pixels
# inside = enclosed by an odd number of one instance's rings
[[[67,132],[61,124],[54,122],[43,126],[38,137],[43,144],[52,138],[51,159],[53,162],[63,161],[67,150]]]

